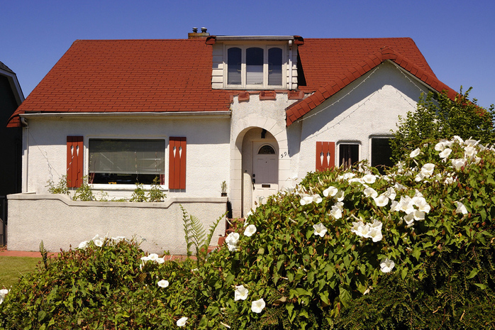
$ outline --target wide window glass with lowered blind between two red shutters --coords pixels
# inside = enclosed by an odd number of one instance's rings
[[[163,184],[165,140],[89,140],[89,181],[93,184]]]

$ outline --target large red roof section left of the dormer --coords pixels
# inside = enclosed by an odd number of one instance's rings
[[[13,114],[228,111],[211,89],[211,45],[196,40],[77,40]]]

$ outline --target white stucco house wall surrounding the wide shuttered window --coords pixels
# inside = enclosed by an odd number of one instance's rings
[[[57,183],[67,174],[67,136],[84,136],[84,175],[88,174],[90,138],[164,138],[168,197],[219,197],[221,182],[230,179],[228,116],[28,117],[28,128],[23,129],[23,192],[46,193],[48,180]],[[186,189],[180,192],[167,189],[170,136],[187,138]],[[135,185],[94,185],[94,194],[104,191],[110,199],[128,198],[134,189]]]

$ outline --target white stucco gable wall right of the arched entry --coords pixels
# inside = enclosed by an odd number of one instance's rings
[[[301,136],[300,146],[296,145],[297,138],[289,145],[294,151],[299,149],[293,153],[291,168],[300,178],[316,170],[317,141],[335,142],[337,166],[339,143],[359,144],[360,160],[371,160],[371,138],[391,137],[399,116],[416,110],[420,94],[402,72],[384,62],[371,75],[357,79],[289,127],[289,135]]]

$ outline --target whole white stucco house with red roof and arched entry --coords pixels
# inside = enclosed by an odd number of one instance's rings
[[[9,234],[32,249],[41,238],[67,248],[94,233],[137,233],[147,248],[181,253],[178,204],[208,224],[227,202],[245,216],[308,171],[386,165],[398,116],[444,89],[454,97],[411,38],[77,40],[9,121],[23,128]],[[62,175],[72,190],[86,176],[110,199],[157,177],[167,200],[73,202],[48,194]]]

